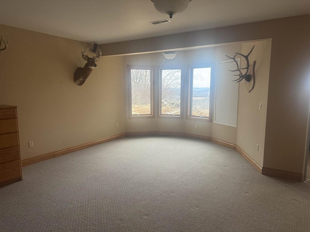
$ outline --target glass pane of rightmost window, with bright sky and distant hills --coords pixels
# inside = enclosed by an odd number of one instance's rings
[[[193,69],[191,116],[209,117],[211,68]]]

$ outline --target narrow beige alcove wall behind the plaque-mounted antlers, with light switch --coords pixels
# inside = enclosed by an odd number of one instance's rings
[[[237,145],[263,167],[271,40],[242,43],[242,54],[248,54],[253,45],[255,47],[249,56],[249,63],[256,61],[255,86],[249,93],[245,82],[240,83]],[[241,67],[245,66],[245,59],[241,59]],[[259,103],[262,103],[261,110]]]

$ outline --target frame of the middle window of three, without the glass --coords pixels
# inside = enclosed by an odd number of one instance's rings
[[[162,78],[161,78],[161,71],[162,70],[181,70],[181,83],[180,83],[180,115],[167,115],[167,114],[162,114],[161,113],[161,85],[162,85]],[[170,66],[165,66],[165,67],[158,67],[158,89],[159,89],[159,96],[158,96],[158,117],[162,117],[162,118],[183,118],[183,77],[184,75],[184,69],[180,66],[178,67],[170,67]]]

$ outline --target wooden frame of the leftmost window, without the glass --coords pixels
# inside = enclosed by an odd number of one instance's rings
[[[143,114],[143,115],[133,115],[132,114],[132,85],[131,85],[131,70],[133,69],[140,69],[140,70],[150,70],[150,97],[151,97],[151,106],[150,106],[150,114]],[[144,117],[154,117],[154,104],[153,104],[153,87],[154,87],[154,67],[153,66],[127,66],[127,72],[128,72],[128,114],[129,118],[144,118]]]

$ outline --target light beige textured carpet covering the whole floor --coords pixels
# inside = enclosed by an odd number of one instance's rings
[[[310,184],[233,149],[123,138],[23,168],[0,188],[1,232],[309,232]]]

